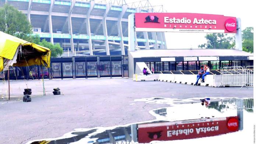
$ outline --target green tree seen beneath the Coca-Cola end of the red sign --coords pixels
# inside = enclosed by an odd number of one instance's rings
[[[207,43],[199,45],[199,48],[207,48],[207,49],[230,49],[234,44],[233,37],[227,37],[227,34],[223,33],[210,33],[206,34],[205,38],[207,39]]]

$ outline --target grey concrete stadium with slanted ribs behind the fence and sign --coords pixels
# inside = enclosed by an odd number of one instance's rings
[[[27,15],[34,34],[60,43],[69,56],[128,54],[128,16],[154,11],[93,0],[0,0],[0,7],[5,3]],[[137,49],[167,48],[164,32],[136,32],[135,42]]]

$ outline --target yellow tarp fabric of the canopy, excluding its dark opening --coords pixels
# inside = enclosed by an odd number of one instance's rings
[[[19,45],[22,45],[22,47],[30,46],[33,48],[33,50],[35,50],[35,52],[44,54],[40,56],[34,56],[27,61],[19,61],[17,58],[17,63],[14,64],[14,66],[26,67],[42,64],[45,67],[50,67],[50,49],[40,45],[36,45],[35,43],[27,42],[23,39],[14,37],[0,31],[0,71],[2,71],[4,67],[3,58],[12,60]]]

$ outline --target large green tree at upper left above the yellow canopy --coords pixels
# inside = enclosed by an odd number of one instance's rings
[[[0,31],[28,40],[32,34],[32,26],[25,14],[5,4],[0,8]]]

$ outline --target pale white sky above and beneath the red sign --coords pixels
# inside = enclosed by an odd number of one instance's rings
[[[131,3],[139,0],[125,0]],[[242,30],[256,23],[254,0],[149,0],[152,5],[163,5],[167,12],[217,14],[241,18]],[[206,33],[165,33],[168,49],[198,48],[206,43]],[[228,34],[233,36],[234,34]]]

